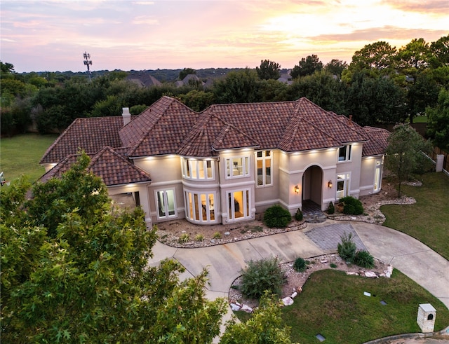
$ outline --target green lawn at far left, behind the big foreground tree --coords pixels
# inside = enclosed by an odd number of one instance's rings
[[[41,177],[45,169],[39,165],[39,160],[57,137],[57,135],[38,134],[2,137],[0,165],[6,181],[14,181],[22,174],[25,174],[29,181],[36,181]]]

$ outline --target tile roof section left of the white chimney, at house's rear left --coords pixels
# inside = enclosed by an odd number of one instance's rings
[[[122,126],[122,116],[76,118],[48,147],[40,163],[59,163],[80,149],[86,153],[97,153],[104,146],[119,147],[119,130]]]

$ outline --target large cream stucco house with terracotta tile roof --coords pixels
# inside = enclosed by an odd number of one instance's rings
[[[380,191],[387,130],[357,125],[307,98],[215,104],[196,112],[162,97],[139,116],[77,118],[48,148],[46,181],[83,149],[109,195],[133,195],[149,225],[233,223],[280,204]]]

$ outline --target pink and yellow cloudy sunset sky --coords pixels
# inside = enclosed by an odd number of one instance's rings
[[[15,71],[292,68],[351,62],[375,41],[401,48],[449,33],[448,0],[1,0],[0,60]]]

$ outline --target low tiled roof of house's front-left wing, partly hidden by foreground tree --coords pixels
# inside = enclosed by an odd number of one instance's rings
[[[128,158],[120,153],[123,151],[126,149],[112,149],[105,146],[96,154],[88,154],[91,158],[88,170],[101,177],[107,186],[152,181],[147,172],[130,163]],[[45,182],[51,177],[61,177],[76,162],[78,156],[79,154],[67,156],[39,180]]]

